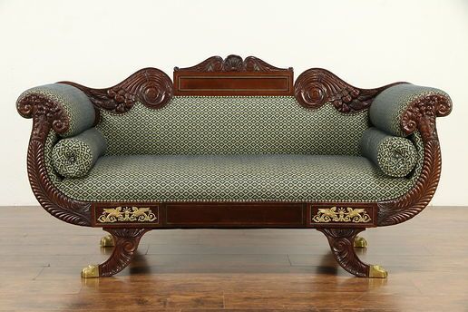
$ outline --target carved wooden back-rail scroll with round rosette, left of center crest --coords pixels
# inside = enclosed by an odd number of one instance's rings
[[[96,107],[115,113],[128,112],[135,102],[158,109],[172,98],[171,78],[156,68],[142,69],[122,83],[107,89],[92,89],[71,82],[62,83],[82,90]]]

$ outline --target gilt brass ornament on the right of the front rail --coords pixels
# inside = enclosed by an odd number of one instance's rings
[[[312,218],[317,223],[328,222],[353,222],[353,223],[366,223],[371,220],[365,209],[350,207],[339,208],[336,207],[327,209],[318,209],[317,215]]]

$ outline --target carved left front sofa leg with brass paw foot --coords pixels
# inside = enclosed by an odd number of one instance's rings
[[[127,267],[138,248],[140,239],[150,229],[104,229],[111,233],[114,248],[112,255],[100,265],[90,265],[82,270],[82,278],[112,277]]]

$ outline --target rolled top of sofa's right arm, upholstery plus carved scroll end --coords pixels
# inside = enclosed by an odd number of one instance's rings
[[[451,110],[452,100],[444,91],[402,83],[375,97],[369,117],[376,128],[403,137],[417,129],[421,118],[446,116]]]

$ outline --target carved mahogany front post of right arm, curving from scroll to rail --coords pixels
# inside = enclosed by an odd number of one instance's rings
[[[378,203],[378,225],[387,226],[413,218],[432,200],[441,175],[441,150],[435,118],[448,115],[452,102],[442,94],[415,99],[403,114],[401,127],[406,134],[421,133],[424,144],[423,168],[412,190],[396,200]]]

